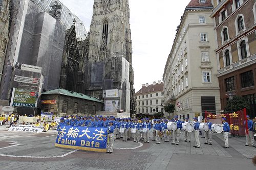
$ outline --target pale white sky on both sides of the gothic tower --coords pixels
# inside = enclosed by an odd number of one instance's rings
[[[93,0],[60,0],[83,21],[87,31]],[[129,0],[135,91],[163,77],[181,16],[190,0]]]

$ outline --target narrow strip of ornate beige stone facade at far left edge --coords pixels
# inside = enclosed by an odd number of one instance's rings
[[[0,1],[0,82],[6,54],[6,45],[9,38],[9,3],[10,0]]]

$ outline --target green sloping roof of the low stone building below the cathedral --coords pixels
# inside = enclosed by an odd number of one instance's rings
[[[94,98],[92,96],[77,93],[77,92],[68,91],[68,90],[65,90],[65,89],[55,89],[55,90],[51,90],[51,91],[46,91],[42,94],[62,94],[62,95],[68,95],[68,96],[71,96],[71,97],[74,97],[74,98],[80,98],[80,99],[85,99],[85,100],[89,100],[89,101],[103,103],[102,101],[100,101],[97,98]]]

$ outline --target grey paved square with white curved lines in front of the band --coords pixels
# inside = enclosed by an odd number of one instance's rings
[[[222,134],[214,134],[212,145],[195,149],[184,142],[114,142],[114,153],[96,153],[54,147],[56,131],[46,133],[8,132],[0,128],[0,169],[256,169],[251,158],[256,149],[245,147],[245,137],[229,138],[223,149]]]

